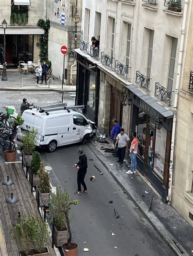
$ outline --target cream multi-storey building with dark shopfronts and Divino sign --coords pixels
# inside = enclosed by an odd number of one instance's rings
[[[179,204],[171,195],[173,104],[182,85],[184,52],[192,26],[190,12],[184,12],[191,1],[176,2],[173,8],[170,1],[83,0],[83,40],[76,50],[77,104],[87,105],[86,116],[107,135],[113,118],[129,137],[137,132],[138,171],[164,203],[173,205]],[[97,35],[100,47],[94,50],[91,37]]]

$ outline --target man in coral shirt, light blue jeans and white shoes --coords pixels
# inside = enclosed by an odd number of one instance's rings
[[[130,147],[131,169],[129,171],[126,171],[126,174],[134,174],[136,173],[137,169],[137,151],[139,140],[135,131],[132,133],[132,136],[133,140]]]

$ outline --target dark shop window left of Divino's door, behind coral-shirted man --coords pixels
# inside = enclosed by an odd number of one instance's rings
[[[147,129],[147,114],[144,111],[139,111],[137,122],[136,122],[136,132],[139,140],[138,145],[138,155],[145,159],[145,141],[146,141],[146,129]]]

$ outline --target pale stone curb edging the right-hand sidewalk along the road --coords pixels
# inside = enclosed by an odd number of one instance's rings
[[[141,201],[138,196],[134,195],[132,191],[129,191],[129,186],[125,179],[116,170],[112,170],[105,164],[105,156],[103,156],[101,152],[98,151],[93,144],[88,144],[88,147],[92,150],[96,158],[99,159],[99,161],[102,163],[105,169],[107,169],[107,171],[111,174],[111,176],[114,178],[116,183],[121,187],[121,189],[123,189],[123,191],[126,192],[125,194],[127,194],[127,196],[129,196],[133,203],[138,207],[141,213],[145,216],[145,218],[148,220],[151,226],[156,230],[158,235],[169,246],[172,252],[177,256],[189,256],[186,250],[178,242],[178,245],[180,245],[183,251],[183,254],[180,253],[178,247],[176,247],[175,243],[173,242],[173,240],[176,240],[175,237],[164,227],[164,225],[160,222],[160,220],[155,216],[155,214],[152,211],[149,212],[147,205],[143,201]]]

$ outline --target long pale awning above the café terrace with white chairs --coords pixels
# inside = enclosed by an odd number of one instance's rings
[[[0,28],[0,34],[4,34],[4,29]],[[44,29],[40,27],[7,27],[6,35],[43,35]]]

